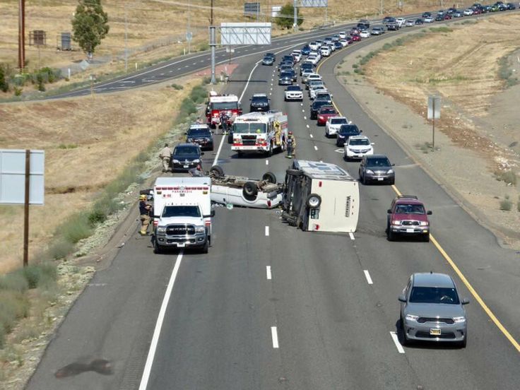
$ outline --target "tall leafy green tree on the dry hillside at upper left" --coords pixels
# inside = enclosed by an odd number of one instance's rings
[[[101,0],[78,0],[72,19],[72,39],[83,52],[93,54],[109,28],[108,14],[103,11]]]

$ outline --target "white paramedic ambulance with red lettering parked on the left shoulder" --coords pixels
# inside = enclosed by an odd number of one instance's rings
[[[214,214],[209,177],[158,177],[153,186],[153,252],[197,248],[208,253]]]

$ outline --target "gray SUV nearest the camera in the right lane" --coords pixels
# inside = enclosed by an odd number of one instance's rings
[[[399,295],[403,345],[411,341],[447,341],[466,348],[468,320],[451,276],[414,273]]]

